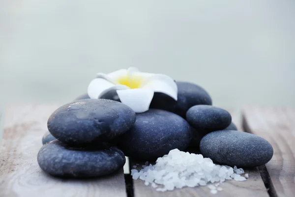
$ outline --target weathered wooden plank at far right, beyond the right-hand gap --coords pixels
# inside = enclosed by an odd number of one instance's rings
[[[243,110],[246,131],[265,138],[274,155],[266,164],[269,185],[278,197],[295,196],[295,109],[248,108]],[[272,188],[270,188],[272,189]]]

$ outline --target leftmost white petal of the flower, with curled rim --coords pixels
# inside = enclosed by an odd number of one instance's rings
[[[99,99],[102,95],[111,90],[126,90],[129,87],[124,85],[116,85],[104,78],[93,79],[88,86],[88,96],[90,99]]]

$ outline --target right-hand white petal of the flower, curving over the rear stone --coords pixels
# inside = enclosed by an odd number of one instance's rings
[[[177,100],[177,85],[172,78],[164,74],[154,74],[144,81],[140,88],[164,93]]]

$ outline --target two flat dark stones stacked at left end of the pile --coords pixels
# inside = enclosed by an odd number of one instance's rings
[[[37,161],[60,177],[97,177],[122,168],[125,156],[110,143],[130,130],[135,112],[108,99],[85,99],[59,107],[48,120]]]

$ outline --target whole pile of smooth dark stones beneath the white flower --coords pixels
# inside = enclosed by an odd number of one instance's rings
[[[236,131],[231,114],[211,106],[203,88],[176,83],[177,101],[155,93],[144,113],[135,114],[120,103],[116,92],[104,99],[84,95],[63,105],[48,120],[51,134],[43,137],[43,143],[58,140],[41,148],[39,165],[52,175],[99,176],[122,167],[124,155],[152,161],[176,148],[201,151],[213,162],[231,166],[257,166],[271,159],[271,145]],[[97,148],[106,142],[107,148]]]

